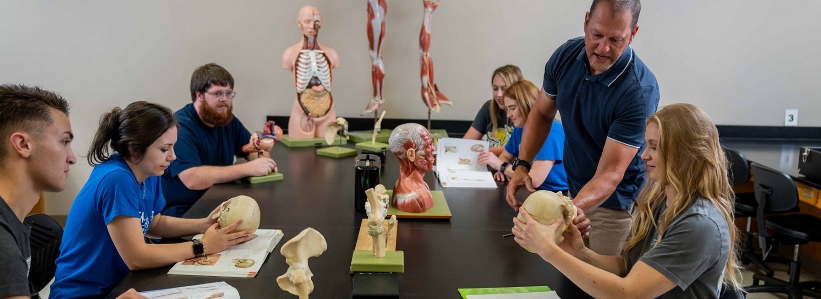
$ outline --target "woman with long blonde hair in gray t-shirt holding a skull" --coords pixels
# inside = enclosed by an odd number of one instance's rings
[[[706,113],[672,104],[649,117],[641,158],[649,181],[638,199],[622,256],[585,248],[570,223],[553,242],[558,220],[513,219],[516,242],[538,253],[596,298],[718,298],[740,288],[736,226],[727,159]]]

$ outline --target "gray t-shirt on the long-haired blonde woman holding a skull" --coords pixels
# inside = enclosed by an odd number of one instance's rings
[[[655,213],[661,218],[663,205]],[[661,242],[650,227],[647,237],[627,253],[628,271],[639,260],[658,270],[677,288],[658,298],[718,298],[730,256],[730,230],[715,205],[693,196],[690,207],[670,223]]]

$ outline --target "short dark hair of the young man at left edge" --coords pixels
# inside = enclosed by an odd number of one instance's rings
[[[36,138],[54,121],[51,109],[68,116],[68,103],[60,94],[39,86],[0,85],[0,161],[6,159],[8,136],[26,131]]]

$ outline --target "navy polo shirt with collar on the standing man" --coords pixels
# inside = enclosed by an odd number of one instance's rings
[[[644,127],[658,108],[658,81],[653,72],[627,47],[612,67],[591,75],[585,39],[562,44],[544,66],[544,91],[556,99],[565,130],[564,163],[572,195],[593,178],[604,141],[611,139],[639,151],[616,191],[599,205],[630,209],[644,185]]]

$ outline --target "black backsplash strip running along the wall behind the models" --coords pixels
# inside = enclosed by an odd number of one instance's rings
[[[268,116],[268,121],[277,123],[282,130],[287,132],[288,117]],[[367,131],[374,128],[374,118],[371,117],[350,117],[348,121],[349,130]],[[422,126],[428,125],[426,119],[391,119],[385,118],[382,121],[384,129],[393,129],[403,123],[414,122]],[[461,138],[470,128],[471,121],[447,121],[432,120],[433,129],[443,129],[452,137]],[[261,126],[260,126],[261,127]],[[762,127],[762,126],[716,126],[718,135],[722,140],[746,139],[746,140],[821,140],[821,127]]]

